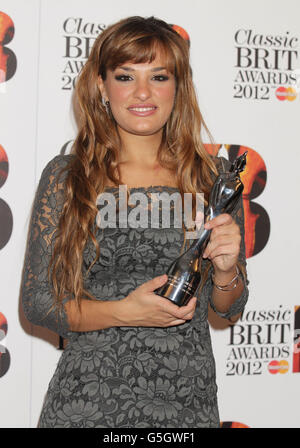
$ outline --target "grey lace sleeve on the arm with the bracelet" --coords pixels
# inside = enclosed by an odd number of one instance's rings
[[[220,165],[222,166],[222,168],[220,167]],[[230,162],[228,162],[228,160],[224,159],[223,157],[218,158],[218,160],[216,161],[216,166],[219,170],[219,172],[225,169],[228,169],[230,166]],[[221,168],[221,169],[220,169]],[[247,278],[247,270],[246,270],[246,255],[245,255],[245,228],[244,228],[244,207],[243,207],[243,199],[240,198],[236,209],[234,210],[234,212],[232,213],[232,217],[235,220],[235,222],[238,224],[239,228],[240,228],[240,233],[241,233],[241,246],[240,246],[240,254],[239,254],[239,265],[242,267],[243,269],[243,274],[244,274],[244,289],[243,292],[241,294],[241,296],[231,305],[231,307],[229,308],[229,310],[226,313],[221,313],[220,311],[218,311],[212,301],[212,281],[211,281],[211,275],[209,275],[208,280],[203,288],[203,293],[208,295],[208,301],[209,304],[211,306],[211,308],[215,311],[215,313],[217,313],[219,316],[225,318],[225,319],[230,319],[232,316],[235,316],[239,313],[241,313],[247,303],[248,300],[248,296],[249,296],[249,290],[248,290],[248,278]],[[211,272],[210,272],[211,274]]]

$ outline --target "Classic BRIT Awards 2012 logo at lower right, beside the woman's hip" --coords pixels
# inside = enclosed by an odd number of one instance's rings
[[[229,327],[227,376],[300,372],[300,307],[245,309]]]

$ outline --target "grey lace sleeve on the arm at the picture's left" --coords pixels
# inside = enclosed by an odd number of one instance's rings
[[[69,325],[65,311],[56,313],[48,267],[59,215],[63,207],[64,172],[58,175],[71,156],[56,156],[44,169],[33,204],[25,254],[21,299],[24,314],[35,324],[67,337]],[[51,310],[51,311],[50,311]]]

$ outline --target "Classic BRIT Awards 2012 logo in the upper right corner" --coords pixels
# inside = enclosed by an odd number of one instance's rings
[[[290,31],[265,34],[239,28],[234,34],[233,97],[294,101],[298,48],[299,38]]]

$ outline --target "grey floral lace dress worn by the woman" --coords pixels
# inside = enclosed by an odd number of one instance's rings
[[[53,296],[47,269],[63,206],[64,176],[58,184],[56,180],[70,157],[56,156],[42,173],[22,279],[23,309],[29,321],[67,340],[48,387],[39,427],[218,427],[215,361],[207,322],[210,276],[194,318],[175,327],[72,332],[66,314],[57,318],[55,311],[49,313]],[[117,192],[117,188],[107,191]],[[178,190],[153,186],[132,191],[146,193],[150,200],[150,193]],[[244,235],[242,203],[235,219]],[[101,255],[85,283],[96,300],[120,300],[165,273],[183,244],[183,230],[172,226],[98,227],[96,236]],[[94,256],[94,246],[88,243],[86,267]],[[245,265],[243,238],[240,262]],[[225,317],[241,312],[247,297],[246,285]]]

